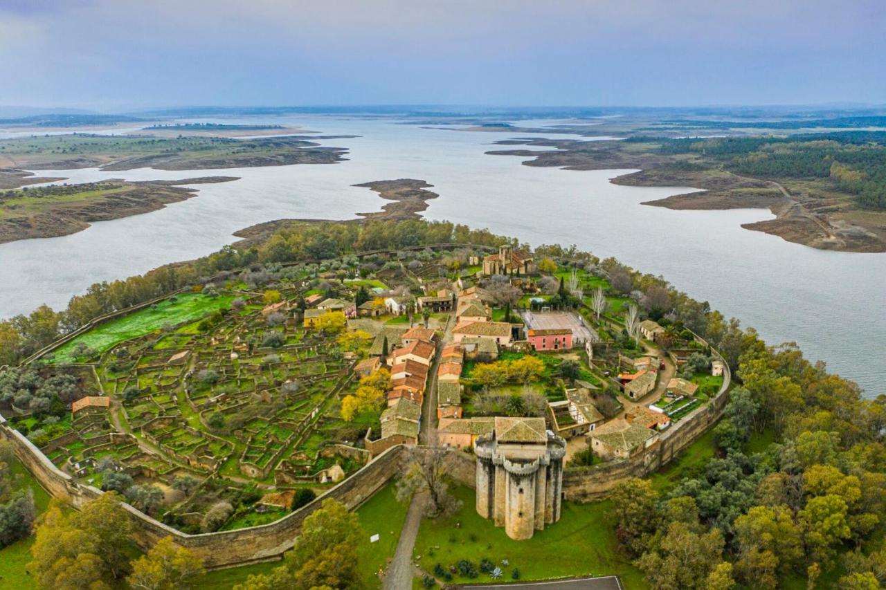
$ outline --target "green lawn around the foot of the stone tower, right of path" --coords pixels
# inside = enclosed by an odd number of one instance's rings
[[[648,587],[641,571],[616,552],[613,527],[605,516],[607,501],[589,504],[565,502],[560,521],[544,531],[536,531],[531,540],[512,540],[504,529],[477,514],[474,491],[468,487],[455,489],[462,508],[452,518],[425,519],[416,540],[416,559],[425,571],[433,571],[436,563],[448,568],[459,560],[478,564],[488,558],[501,565],[509,581],[511,571],[520,571],[521,581],[570,576],[621,576],[626,588]],[[456,577],[454,583],[489,582],[481,573],[478,578]]]

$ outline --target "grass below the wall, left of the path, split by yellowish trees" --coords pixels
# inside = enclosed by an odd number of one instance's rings
[[[384,570],[393,557],[400,540],[400,530],[406,520],[408,506],[400,504],[394,497],[392,483],[385,485],[376,495],[369,498],[357,509],[363,528],[360,547],[357,550],[358,567],[365,588],[381,587],[377,571]],[[369,537],[378,534],[379,540],[369,542]],[[257,563],[242,568],[210,571],[194,586],[206,590],[229,588],[246,581],[250,575],[266,574],[280,565],[279,562]]]

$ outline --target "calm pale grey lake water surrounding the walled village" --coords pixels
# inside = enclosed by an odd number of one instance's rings
[[[627,170],[526,167],[520,158],[484,154],[502,149],[494,141],[519,134],[428,129],[389,119],[285,117],[271,122],[360,137],[323,141],[349,150],[346,162],[332,165],[41,171],[66,176],[68,182],[242,178],[198,185],[198,196],[183,203],[97,222],[72,236],[0,245],[0,317],[27,313],[44,302],[66,307],[91,283],[214,252],[234,241],[232,232],[261,221],[351,219],[357,212],[376,211],[385,201],[350,185],[409,177],[430,182],[439,193],[426,213],[430,219],[488,227],[532,245],[576,244],[600,257],[615,256],[666,277],[696,299],[709,300],[711,307],[757,328],[770,343],[796,341],[809,358],[827,361],[868,395],[886,392],[884,254],[824,252],[739,227],[770,218],[766,210],[641,206],[691,189],[609,182]],[[551,121],[533,124],[540,122]]]

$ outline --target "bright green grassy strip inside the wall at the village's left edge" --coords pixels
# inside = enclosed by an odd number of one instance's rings
[[[145,307],[134,314],[106,322],[74,338],[55,351],[55,362],[74,362],[74,346],[82,342],[99,352],[105,352],[114,345],[130,338],[138,338],[159,330],[164,324],[189,322],[211,314],[217,309],[229,307],[231,296],[210,298],[198,293],[178,295],[175,302],[169,299],[157,304],[157,308]]]

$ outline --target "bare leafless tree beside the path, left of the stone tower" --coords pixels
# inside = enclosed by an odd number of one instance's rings
[[[408,501],[415,493],[428,493],[431,501],[426,508],[426,516],[452,516],[462,502],[449,493],[452,480],[447,449],[442,446],[430,448],[410,448],[403,475],[397,482],[397,499]]]

